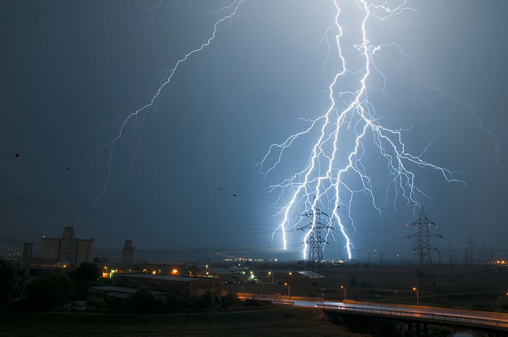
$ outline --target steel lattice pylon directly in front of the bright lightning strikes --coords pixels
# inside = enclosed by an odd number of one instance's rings
[[[315,196],[314,196],[315,200]],[[328,243],[321,237],[321,230],[325,228],[332,228],[329,225],[321,223],[321,216],[328,214],[321,211],[317,204],[313,209],[307,211],[303,216],[309,217],[309,224],[300,228],[301,230],[310,229],[307,241],[309,245],[309,257],[307,260],[307,270],[320,275],[325,275],[325,264],[323,260],[323,244]]]

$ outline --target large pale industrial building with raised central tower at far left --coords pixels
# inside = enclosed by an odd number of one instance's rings
[[[92,261],[92,246],[95,239],[77,239],[74,226],[63,226],[61,238],[41,238],[41,258],[59,259],[71,264]]]

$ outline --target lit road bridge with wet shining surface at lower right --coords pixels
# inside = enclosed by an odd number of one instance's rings
[[[313,297],[274,296],[249,293],[238,293],[241,299],[270,300],[274,304],[297,307],[323,308],[324,311],[374,316],[407,323],[409,335],[412,335],[412,324],[417,332],[423,323],[424,332],[427,324],[457,326],[482,330],[489,336],[508,336],[508,314],[487,311],[462,310],[426,306],[408,306],[398,304],[380,304],[352,300],[330,301]]]

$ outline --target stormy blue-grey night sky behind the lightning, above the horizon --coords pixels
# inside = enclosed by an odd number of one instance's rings
[[[127,125],[129,131],[115,144],[104,190],[111,147],[103,147],[118,134],[115,123],[148,104],[167,78],[161,72],[204,44],[213,24],[231,13],[210,12],[231,1],[163,0],[150,10],[158,3],[2,3],[1,255],[21,252],[23,242],[37,244],[42,235],[58,237],[69,224],[76,225],[78,238],[96,238],[96,252],[120,249],[132,239],[138,249],[167,251],[167,258],[181,249],[202,256],[225,250],[252,258],[267,252],[263,257],[301,256],[301,231],[289,234],[286,251],[279,233],[272,242],[280,222],[274,214],[282,205],[274,205],[278,195],[267,188],[302,170],[314,139],[295,142],[266,176],[256,172],[256,164],[270,145],[306,129],[305,120],[330,106],[327,90],[340,62],[333,41],[327,59],[323,35],[334,22],[333,2],[241,3],[232,20],[217,25],[208,46],[179,64],[136,132]],[[354,1],[338,3],[355,13]],[[418,201],[443,236],[433,245],[444,252],[451,244],[460,259],[471,237],[479,248],[492,245],[503,252],[508,3],[407,5],[415,11],[369,22],[376,44],[395,42],[410,55],[391,46],[374,59],[388,97],[372,91],[376,117],[392,129],[408,129],[404,143],[413,153],[432,141],[422,157],[460,171],[456,177],[465,182],[449,183],[439,172],[411,167],[418,187],[431,198]],[[353,27],[358,18],[344,14],[341,22]],[[344,39],[353,41],[355,33]],[[494,138],[469,107],[419,83],[472,107],[496,136],[499,164]],[[342,82],[340,88],[348,85]],[[375,153],[373,143],[364,146]],[[368,196],[355,199],[357,230],[348,228],[353,258],[368,252],[383,252],[385,260],[397,253],[412,257],[412,242],[405,237],[415,228],[405,225],[416,220],[419,209],[415,215],[391,193],[387,202],[391,178],[379,154],[364,164],[382,216]],[[323,210],[329,211],[326,205]],[[335,238],[325,256],[343,259],[344,240]]]

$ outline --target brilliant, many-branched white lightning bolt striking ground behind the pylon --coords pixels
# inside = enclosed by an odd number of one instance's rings
[[[354,197],[358,194],[366,194],[372,202],[372,207],[379,212],[379,216],[381,215],[381,209],[377,206],[374,197],[371,178],[362,162],[366,152],[364,147],[366,141],[371,140],[375,144],[375,149],[386,161],[387,171],[392,177],[386,190],[387,201],[391,191],[394,193],[394,208],[397,200],[403,200],[406,208],[412,208],[415,213],[419,206],[418,199],[428,197],[417,186],[415,174],[411,172],[412,167],[431,168],[442,174],[448,182],[456,182],[464,186],[465,183],[456,178],[458,171],[450,171],[446,167],[423,159],[432,140],[419,155],[411,154],[406,150],[403,141],[404,129],[397,130],[383,126],[380,123],[381,118],[376,117],[373,103],[369,101],[369,93],[373,90],[382,90],[388,98],[384,91],[385,76],[374,62],[379,51],[384,48],[396,48],[402,56],[406,55],[395,43],[375,45],[372,33],[367,35],[367,23],[369,20],[384,21],[404,11],[415,10],[407,7],[405,0],[393,8],[390,8],[387,2],[383,5],[373,5],[367,4],[366,0],[358,0],[354,2],[354,8],[363,16],[359,27],[346,29],[339,23],[341,8],[337,0],[334,0],[334,5],[335,21],[325,32],[323,40],[326,40],[329,53],[331,49],[329,34],[336,31],[335,48],[341,64],[329,85],[329,109],[323,115],[308,121],[310,125],[303,131],[293,134],[282,143],[272,144],[264,158],[257,164],[257,170],[266,177],[282,161],[284,151],[293,145],[295,140],[305,135],[315,134],[314,137],[317,137],[317,140],[312,145],[310,156],[303,169],[281,183],[271,185],[268,189],[269,192],[278,191],[279,193],[274,205],[279,203],[283,205],[277,208],[276,215],[282,216],[282,221],[272,233],[272,241],[274,234],[280,231],[283,248],[286,249],[288,230],[296,229],[302,221],[302,217],[296,214],[297,209],[303,206],[307,210],[314,210],[316,205],[322,203],[333,209],[330,218],[325,220],[329,226],[326,229],[326,236],[330,234],[333,236],[332,227],[335,227],[342,234],[345,241],[344,251],[348,259],[351,259],[351,251],[354,247],[343,217],[347,217],[351,229],[354,230],[354,219],[351,214]],[[353,40],[349,35],[352,35],[350,31],[355,29],[361,31],[361,38],[356,42],[348,42]],[[345,34],[348,35],[347,38]],[[341,43],[348,44],[343,46]],[[361,60],[360,65],[358,65],[359,60]],[[323,63],[323,68],[327,61],[328,56]],[[375,79],[376,76],[383,83],[380,88],[372,88],[368,84],[369,80]],[[344,84],[350,87],[347,90],[340,90],[339,85]],[[282,197],[287,194],[291,195],[289,201],[282,201]],[[341,206],[347,211],[345,215],[339,214],[338,210]],[[292,221],[294,217],[299,219]],[[306,232],[304,241],[309,238],[316,225],[315,215],[311,221],[311,228]],[[325,249],[325,245],[323,244],[322,249]],[[304,259],[307,258],[306,254],[307,244],[303,249]]]

